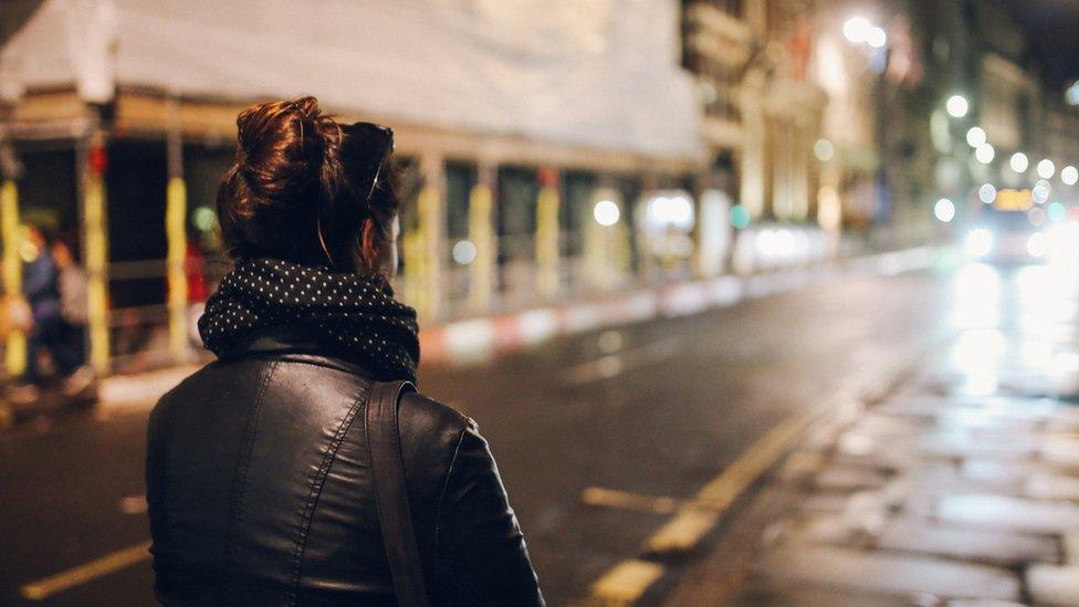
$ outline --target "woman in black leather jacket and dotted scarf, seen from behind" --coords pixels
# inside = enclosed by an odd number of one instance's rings
[[[219,359],[149,420],[155,590],[167,605],[392,605],[400,577],[379,517],[399,513],[381,484],[386,472],[362,410],[375,381],[411,379],[419,358],[416,313],[389,285],[392,133],[338,125],[313,97],[237,124],[218,193],[235,268],[199,322]],[[415,393],[398,416],[422,571],[407,587],[437,605],[542,605],[475,423]]]

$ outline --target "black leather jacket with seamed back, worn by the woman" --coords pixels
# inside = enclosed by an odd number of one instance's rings
[[[368,374],[275,331],[149,420],[155,592],[166,605],[395,605],[364,437]],[[406,484],[433,605],[542,605],[475,422],[401,399]]]

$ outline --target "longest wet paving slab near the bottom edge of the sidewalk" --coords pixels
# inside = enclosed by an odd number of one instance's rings
[[[768,554],[763,568],[778,579],[824,587],[903,596],[930,594],[941,599],[1019,600],[1019,579],[1006,569],[922,556],[789,544]]]

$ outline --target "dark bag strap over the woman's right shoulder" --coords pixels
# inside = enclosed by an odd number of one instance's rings
[[[401,607],[427,607],[427,588],[405,486],[397,408],[410,381],[375,381],[367,397],[367,454],[375,477],[375,502],[383,527],[394,590]]]

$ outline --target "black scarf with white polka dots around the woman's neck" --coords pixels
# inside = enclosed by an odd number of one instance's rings
[[[395,300],[381,276],[242,259],[207,302],[199,334],[221,356],[252,332],[280,324],[302,324],[379,379],[416,377],[416,311]]]

